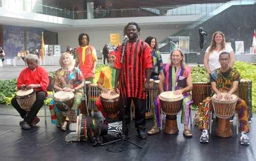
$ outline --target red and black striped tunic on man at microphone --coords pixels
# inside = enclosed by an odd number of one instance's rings
[[[121,54],[122,45],[118,49],[115,68],[122,70]],[[143,84],[146,81],[146,68],[153,68],[150,45],[142,40],[130,43],[126,42],[124,51],[124,81],[121,73],[120,89],[121,96],[123,93],[122,84],[124,85],[124,96],[145,99],[145,93],[142,93]]]

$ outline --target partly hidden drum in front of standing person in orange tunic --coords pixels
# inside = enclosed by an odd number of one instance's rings
[[[89,104],[88,109],[90,110],[99,110],[95,102],[99,98],[100,89],[97,87],[97,84],[89,84]]]

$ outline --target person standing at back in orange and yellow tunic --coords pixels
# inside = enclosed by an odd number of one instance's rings
[[[82,72],[86,81],[96,84],[95,81],[95,67],[97,55],[93,46],[89,45],[90,38],[88,34],[81,33],[78,37],[79,48],[76,50],[75,67],[79,64],[79,70]]]

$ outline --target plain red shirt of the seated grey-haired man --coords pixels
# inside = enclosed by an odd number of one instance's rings
[[[20,85],[23,85],[23,84],[27,86],[29,84],[40,84],[41,88],[34,88],[34,89],[36,89],[37,91],[39,90],[46,91],[46,88],[48,87],[48,84],[49,84],[48,73],[41,66],[37,66],[34,72],[29,67],[27,67],[19,74],[17,82],[18,82],[17,84],[18,90],[20,90],[19,89]]]

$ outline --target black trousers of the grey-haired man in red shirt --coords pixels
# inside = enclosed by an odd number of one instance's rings
[[[12,106],[19,112],[20,117],[22,117],[24,120],[26,120],[30,124],[34,120],[34,117],[36,116],[36,114],[38,113],[42,105],[44,104],[44,100],[46,98],[46,91],[42,91],[42,90],[36,91],[35,95],[36,95],[36,100],[33,106],[31,107],[28,115],[26,111],[19,106],[16,98],[14,97],[12,99]]]

